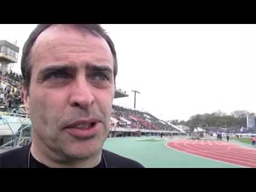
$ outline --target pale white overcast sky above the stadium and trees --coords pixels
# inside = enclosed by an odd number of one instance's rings
[[[0,39],[20,47],[36,25],[0,25]],[[256,112],[256,25],[102,25],[115,43],[117,105],[164,120],[187,121],[222,110]]]

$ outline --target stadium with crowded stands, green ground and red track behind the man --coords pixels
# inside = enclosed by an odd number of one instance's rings
[[[0,41],[0,46],[0,153],[3,153],[28,145],[33,127],[22,102],[22,77],[7,69],[9,63],[17,62],[19,48],[6,41]],[[129,94],[116,89],[115,99],[123,97]],[[229,142],[217,140],[219,131],[174,125],[136,110],[135,105],[134,109],[113,105],[110,120],[103,148],[145,167],[256,167],[256,149],[251,145],[256,133],[237,131],[230,134]],[[220,134],[227,136],[225,131]]]

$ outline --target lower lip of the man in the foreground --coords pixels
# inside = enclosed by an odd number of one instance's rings
[[[76,138],[90,138],[93,137],[98,130],[99,122],[94,123],[94,125],[88,129],[81,129],[77,127],[69,127],[67,128],[67,132]]]

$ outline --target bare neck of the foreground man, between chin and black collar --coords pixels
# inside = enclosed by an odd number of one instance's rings
[[[41,149],[38,147],[35,140],[32,142],[30,153],[40,163],[47,167],[55,168],[90,168],[98,165],[101,161],[101,151],[91,157],[85,159],[71,159],[54,153],[54,151],[47,149]]]

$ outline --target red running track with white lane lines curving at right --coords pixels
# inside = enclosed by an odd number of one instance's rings
[[[230,142],[182,139],[168,142],[166,145],[192,155],[245,167],[256,167],[256,149]]]

